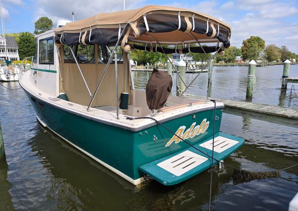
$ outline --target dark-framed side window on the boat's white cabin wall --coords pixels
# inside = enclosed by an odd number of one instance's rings
[[[54,37],[39,41],[39,64],[54,64]]]

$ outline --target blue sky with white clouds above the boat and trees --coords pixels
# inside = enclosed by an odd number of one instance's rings
[[[123,0],[0,0],[6,33],[34,31],[34,22],[47,16],[83,19],[100,12],[123,10]],[[285,45],[298,54],[298,0],[125,0],[125,9],[156,4],[186,8],[216,17],[232,27],[231,44],[241,47],[250,36],[265,44]]]

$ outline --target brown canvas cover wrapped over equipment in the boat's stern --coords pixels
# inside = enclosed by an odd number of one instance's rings
[[[172,77],[167,72],[153,69],[146,86],[146,99],[150,110],[158,110],[164,106],[172,85]]]

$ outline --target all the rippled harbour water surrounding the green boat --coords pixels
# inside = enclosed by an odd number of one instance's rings
[[[272,105],[282,102],[287,107],[289,86],[286,97],[280,100],[277,79],[281,73],[268,74],[268,70],[257,69],[258,83],[252,101]],[[291,66],[292,75],[294,70],[297,68]],[[147,72],[134,74],[136,87],[144,89]],[[215,69],[212,95],[244,100],[246,74],[245,68]],[[187,74],[188,79],[192,76]],[[206,79],[207,74],[201,76]],[[277,79],[265,83],[260,79],[265,76]],[[202,83],[197,82],[190,93],[206,95],[206,81],[198,79]],[[2,84],[18,87],[17,82]],[[0,211],[208,210],[210,172],[172,187],[150,181],[136,188],[42,128],[22,89],[12,91],[0,86],[0,99],[6,152],[6,162],[0,162]],[[290,107],[297,108],[297,105],[294,98]],[[271,171],[298,162],[297,128],[224,113],[221,131],[245,139],[245,144],[225,159],[229,165],[251,171]],[[298,167],[282,171],[281,178],[241,184],[233,184],[231,174],[228,167],[216,168],[212,210],[287,211],[289,202],[298,192]]]

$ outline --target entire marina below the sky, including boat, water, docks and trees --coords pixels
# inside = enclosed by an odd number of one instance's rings
[[[222,18],[123,3],[41,17],[9,51],[1,9],[0,211],[295,211],[298,55],[258,36],[231,47]]]

